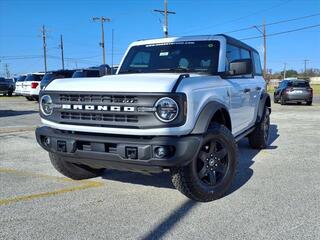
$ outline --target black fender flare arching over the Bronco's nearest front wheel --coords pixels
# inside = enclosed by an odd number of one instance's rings
[[[228,108],[225,105],[216,101],[209,102],[202,108],[191,134],[205,133],[209,127],[209,124],[214,114],[219,110],[226,111],[229,115],[229,120],[230,120],[230,114],[229,114]],[[231,128],[231,120],[230,120],[230,128]]]

